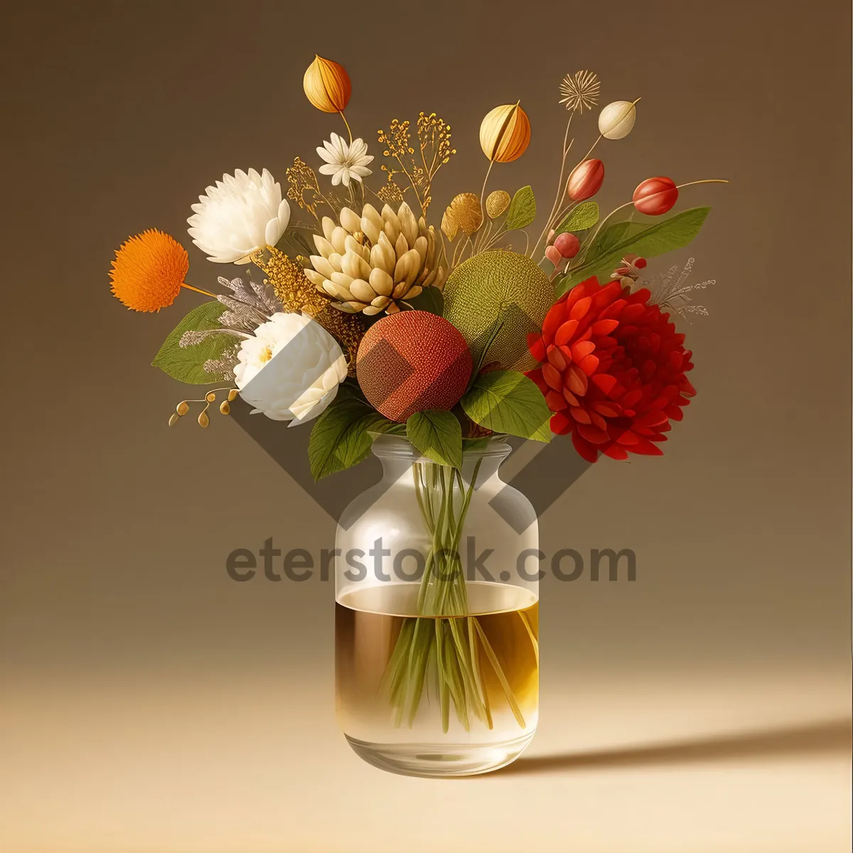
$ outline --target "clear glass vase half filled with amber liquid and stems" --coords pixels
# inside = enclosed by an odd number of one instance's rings
[[[457,776],[508,764],[539,699],[538,525],[491,440],[461,470],[374,440],[383,478],[341,516],[335,584],[339,723],[368,763]]]

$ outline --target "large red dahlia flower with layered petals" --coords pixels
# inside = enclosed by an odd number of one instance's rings
[[[552,306],[542,334],[528,339],[542,367],[527,375],[554,412],[552,432],[571,432],[590,462],[600,452],[660,456],[670,420],[682,420],[696,393],[685,376],[693,353],[669,314],[647,305],[650,295],[588,278]]]

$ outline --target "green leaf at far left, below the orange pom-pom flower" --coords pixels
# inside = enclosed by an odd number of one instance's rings
[[[241,339],[233,334],[209,334],[198,344],[181,346],[181,337],[184,332],[222,328],[219,316],[224,310],[226,308],[221,302],[204,302],[191,310],[163,342],[160,351],[154,356],[154,367],[188,385],[211,385],[212,382],[222,380],[221,374],[207,373],[205,362],[210,358],[221,357],[224,351]]]

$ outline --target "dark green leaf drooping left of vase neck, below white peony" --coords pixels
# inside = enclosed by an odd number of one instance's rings
[[[384,420],[360,400],[332,403],[314,422],[308,442],[315,482],[364,461],[372,444],[368,431]]]

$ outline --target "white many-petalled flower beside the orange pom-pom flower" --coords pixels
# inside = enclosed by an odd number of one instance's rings
[[[189,235],[208,260],[236,264],[252,252],[275,246],[290,221],[290,206],[270,172],[238,169],[208,187],[193,205]]]

